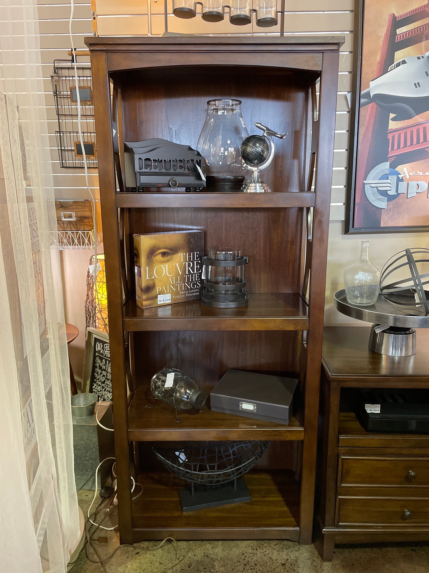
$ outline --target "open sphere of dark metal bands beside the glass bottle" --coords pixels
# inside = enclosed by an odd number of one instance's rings
[[[380,291],[404,314],[429,315],[429,249],[415,247],[394,254],[383,266]]]

